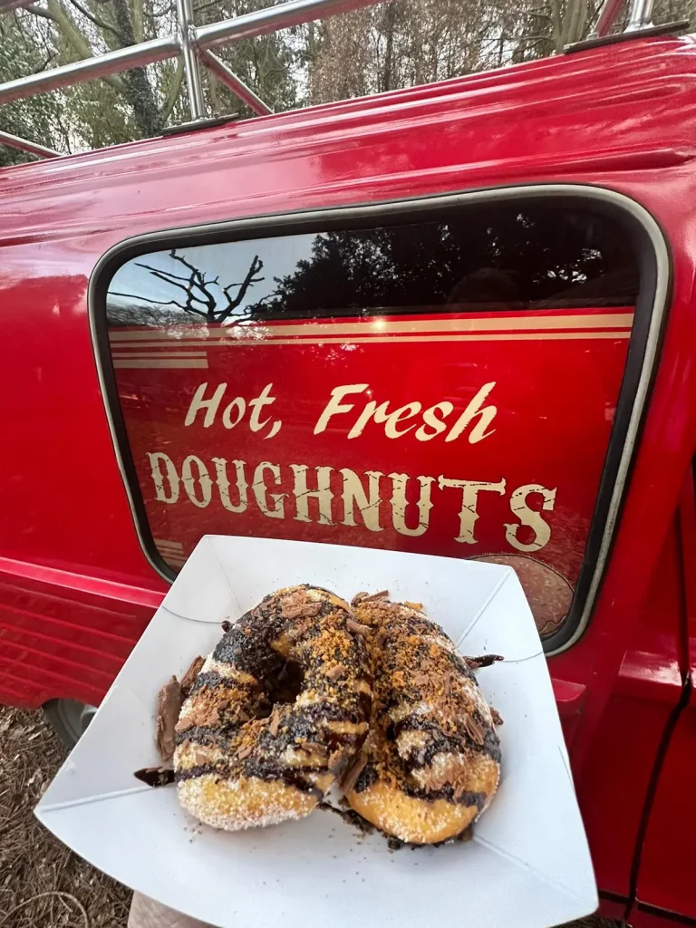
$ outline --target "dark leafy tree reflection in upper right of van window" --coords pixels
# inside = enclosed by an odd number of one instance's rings
[[[460,312],[630,305],[638,269],[611,220],[500,207],[447,222],[319,234],[311,258],[276,284],[252,316],[422,312],[443,303]]]

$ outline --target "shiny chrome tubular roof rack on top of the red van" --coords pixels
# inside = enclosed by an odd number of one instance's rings
[[[0,0],[0,15],[25,6],[29,2],[31,0]],[[138,45],[129,45],[106,55],[85,58],[51,71],[39,71],[36,74],[0,84],[0,104],[24,97],[33,97],[35,94],[58,90],[61,87],[69,87],[72,84],[80,84],[98,77],[107,77],[110,74],[129,71],[132,68],[140,68],[180,55],[184,62],[192,123],[206,120],[200,83],[201,64],[212,71],[215,77],[226,84],[253,112],[264,116],[273,110],[213,53],[214,47],[384,2],[389,2],[389,0],[287,0],[286,3],[267,6],[234,19],[224,19],[210,25],[197,26],[193,20],[191,0],[176,0],[177,29],[174,34],[150,39]],[[597,28],[590,37],[593,42],[608,36],[624,3],[625,0],[604,0]],[[638,37],[641,30],[651,27],[652,3],[653,0],[631,0],[625,32],[632,32]],[[0,145],[19,148],[39,158],[56,158],[60,155],[60,152],[52,148],[45,148],[43,145],[6,132],[0,132]]]

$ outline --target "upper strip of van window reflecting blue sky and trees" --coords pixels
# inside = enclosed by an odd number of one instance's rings
[[[133,302],[110,299],[110,325],[630,306],[638,291],[618,224],[548,205],[477,206],[446,221],[173,249],[128,266],[161,290],[148,295],[142,277],[126,275],[120,290],[131,292],[111,290],[110,298]],[[261,277],[264,268],[271,279]],[[233,275],[237,282],[227,283]]]

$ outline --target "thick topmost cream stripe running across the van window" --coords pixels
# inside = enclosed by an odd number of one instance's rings
[[[415,333],[415,332],[474,332],[474,331],[518,331],[524,329],[616,329],[630,328],[633,323],[633,313],[612,313],[607,315],[595,315],[584,313],[573,316],[495,316],[488,319],[406,319],[399,321],[387,321],[383,318],[370,319],[368,322],[306,322],[306,323],[252,323],[250,326],[230,326],[227,329],[218,329],[219,339],[233,340],[235,337],[242,336],[250,341],[252,339],[272,339],[282,336],[302,336],[310,335],[363,335],[373,332],[376,335],[385,335],[388,333]],[[202,327],[200,327],[202,328]],[[166,338],[161,331],[135,331],[122,332],[111,331],[110,342],[119,342],[120,347],[126,344],[133,345],[141,342],[162,342],[172,346],[172,342],[177,345],[187,345],[190,343],[206,344],[211,339],[202,340],[200,328],[190,330],[189,334],[174,332],[171,337]]]

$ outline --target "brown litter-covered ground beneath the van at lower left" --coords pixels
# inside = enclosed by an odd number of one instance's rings
[[[130,890],[32,815],[65,754],[41,713],[0,706],[0,928],[125,928],[128,921]],[[573,928],[615,923],[588,919]]]

